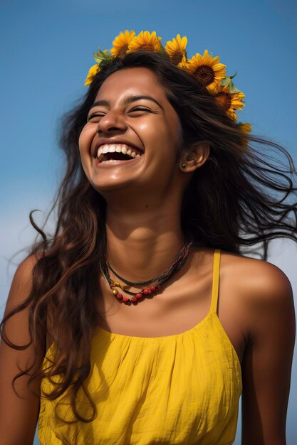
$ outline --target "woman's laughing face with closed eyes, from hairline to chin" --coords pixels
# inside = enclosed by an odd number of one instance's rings
[[[110,75],[88,119],[80,134],[80,158],[88,180],[103,195],[123,188],[162,193],[182,176],[175,161],[179,118],[148,68]],[[134,158],[127,156],[133,151]]]

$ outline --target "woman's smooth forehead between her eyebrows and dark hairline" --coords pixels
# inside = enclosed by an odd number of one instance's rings
[[[119,98],[123,95],[152,95],[167,101],[165,90],[157,75],[145,67],[123,68],[108,76],[98,91],[98,98]]]

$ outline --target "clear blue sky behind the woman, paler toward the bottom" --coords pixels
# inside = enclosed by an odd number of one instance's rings
[[[246,95],[241,122],[286,147],[297,163],[297,6],[278,1],[0,0],[1,37],[1,256],[0,310],[15,266],[8,257],[33,238],[28,213],[45,212],[61,178],[56,143],[59,117],[85,92],[93,52],[110,49],[119,31],[157,31],[162,43],[187,36],[189,57],[219,55]],[[41,216],[40,216],[41,218]],[[41,221],[41,219],[40,219]],[[21,255],[15,261],[21,260]],[[273,242],[269,262],[285,272],[297,294],[297,247]],[[297,306],[297,304],[296,304]],[[297,373],[294,355],[293,373]],[[292,374],[288,445],[297,439]],[[239,444],[240,419],[236,436]],[[294,440],[295,439],[295,440]],[[36,441],[36,444],[38,442]]]

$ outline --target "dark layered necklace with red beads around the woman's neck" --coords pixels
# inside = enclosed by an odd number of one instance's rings
[[[167,267],[165,272],[162,272],[162,274],[152,279],[147,279],[144,282],[130,282],[129,280],[121,277],[120,274],[118,274],[118,272],[115,272],[113,267],[110,266],[108,259],[106,257],[101,272],[103,273],[103,276],[105,277],[105,280],[108,283],[108,286],[110,286],[110,289],[113,292],[113,295],[115,296],[116,299],[122,300],[125,304],[130,303],[130,301],[135,303],[140,299],[146,298],[150,294],[155,294],[158,291],[160,291],[162,284],[167,282],[167,280],[170,279],[172,275],[176,274],[180,269],[182,269],[182,266],[186,262],[187,256],[189,254],[189,247],[191,245],[192,245],[192,240],[186,240],[184,246],[182,247],[181,250],[179,250],[172,264],[170,264],[170,266]],[[110,269],[111,272],[115,274],[115,277],[118,277],[118,279],[120,279],[125,284],[121,282],[116,282],[115,280],[111,279],[108,269]],[[131,286],[142,286],[143,284],[152,284],[155,282],[157,282],[157,284],[155,284],[154,286],[145,287],[141,289],[141,291],[131,292],[127,289],[130,288]],[[123,294],[121,294],[118,291],[117,287],[120,288],[123,292],[125,292],[125,294],[132,295],[132,297],[128,298],[127,296],[123,296]]]

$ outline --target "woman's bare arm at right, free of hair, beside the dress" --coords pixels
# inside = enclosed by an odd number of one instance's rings
[[[281,269],[256,261],[247,311],[249,343],[242,364],[242,445],[286,445],[296,333],[293,294]]]

